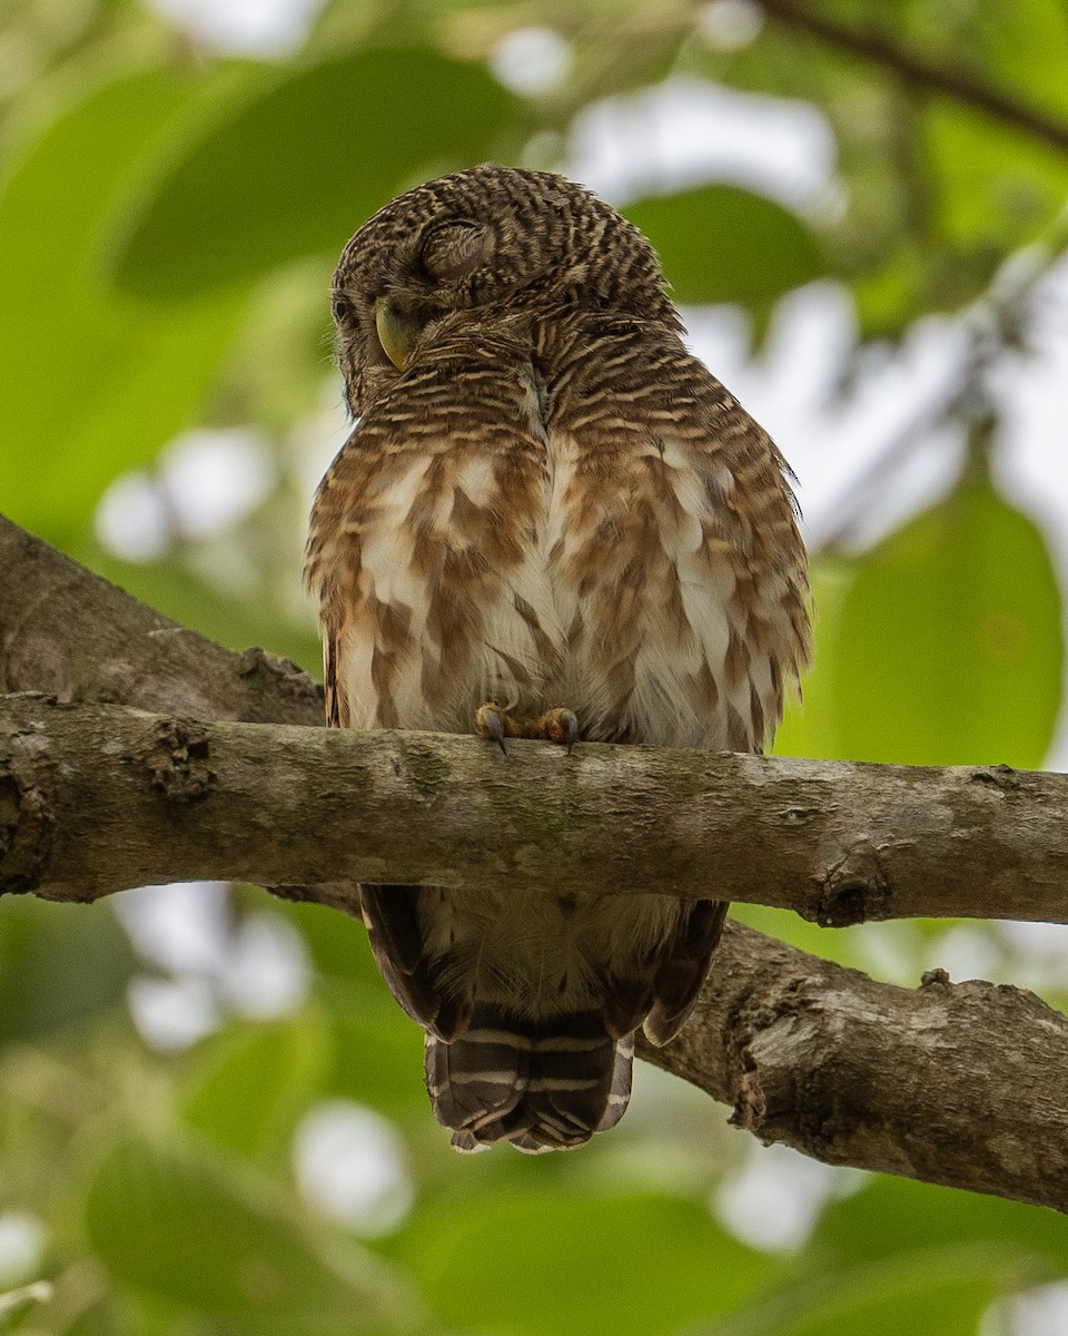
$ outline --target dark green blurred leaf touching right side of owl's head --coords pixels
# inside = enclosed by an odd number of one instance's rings
[[[684,305],[766,306],[824,273],[809,228],[789,210],[736,186],[700,186],[623,208]]]

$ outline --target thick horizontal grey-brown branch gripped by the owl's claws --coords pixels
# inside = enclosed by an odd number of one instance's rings
[[[216,878],[710,892],[1068,922],[1068,776],[210,723],[0,697],[0,890]]]

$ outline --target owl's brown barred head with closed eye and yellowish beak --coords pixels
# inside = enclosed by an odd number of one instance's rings
[[[380,208],[334,275],[338,362],[359,415],[383,382],[473,325],[523,337],[537,321],[601,311],[678,327],[655,253],[563,176],[473,167]]]

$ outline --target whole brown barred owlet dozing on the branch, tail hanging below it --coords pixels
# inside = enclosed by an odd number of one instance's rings
[[[760,751],[808,653],[793,497],[641,232],[475,167],[364,223],[334,317],[355,428],[307,556],[328,723]],[[454,1146],[618,1122],[634,1031],[676,1034],[726,911],[651,891],[360,888]]]

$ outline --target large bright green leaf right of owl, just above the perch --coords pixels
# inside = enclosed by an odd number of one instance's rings
[[[1040,530],[967,474],[868,553],[829,657],[837,756],[1037,768],[1064,659]]]

